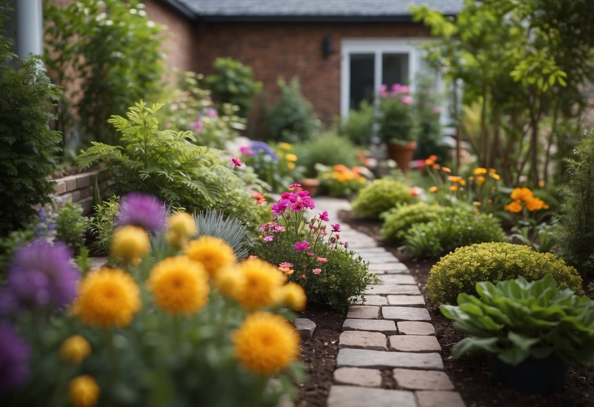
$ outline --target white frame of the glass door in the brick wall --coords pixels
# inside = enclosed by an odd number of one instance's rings
[[[343,119],[349,116],[349,95],[350,95],[350,55],[351,54],[374,54],[374,89],[379,89],[382,77],[382,59],[384,53],[406,53],[409,56],[409,82],[410,91],[415,91],[415,74],[419,69],[419,56],[422,46],[428,42],[434,42],[435,38],[415,37],[409,39],[398,38],[346,38],[340,44],[340,116]],[[437,87],[443,88],[443,81],[437,78]],[[442,115],[443,116],[443,115]]]

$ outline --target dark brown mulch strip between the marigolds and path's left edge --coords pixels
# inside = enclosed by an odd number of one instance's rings
[[[299,313],[299,318],[311,319],[316,328],[311,339],[301,341],[301,360],[307,368],[308,379],[299,384],[299,399],[295,407],[326,407],[345,315],[308,307],[308,310]]]

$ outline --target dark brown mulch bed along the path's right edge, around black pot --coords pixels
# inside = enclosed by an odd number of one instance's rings
[[[444,367],[460,392],[468,407],[586,407],[594,406],[594,366],[570,367],[567,380],[562,392],[547,396],[525,395],[507,389],[491,380],[491,371],[484,355],[453,360],[450,356],[451,346],[464,338],[460,330],[454,328],[450,320],[441,315],[435,304],[429,301],[425,284],[429,270],[437,260],[412,259],[400,252],[396,245],[386,244],[380,236],[380,222],[361,220],[352,212],[343,211],[340,220],[351,227],[373,237],[379,246],[393,253],[405,263],[425,296],[425,303],[431,313],[432,324],[437,333],[437,339],[443,349]],[[585,282],[584,282],[585,285]]]

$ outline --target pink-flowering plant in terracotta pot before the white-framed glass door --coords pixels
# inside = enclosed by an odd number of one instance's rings
[[[387,144],[390,158],[406,173],[417,147],[415,100],[410,96],[410,88],[400,84],[392,85],[390,92],[387,91],[387,85],[381,85],[379,96],[380,114],[377,122],[380,138]]]

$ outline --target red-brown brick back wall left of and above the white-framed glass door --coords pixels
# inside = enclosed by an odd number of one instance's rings
[[[324,37],[333,55],[324,57]],[[194,41],[192,70],[210,73],[218,56],[239,59],[264,84],[267,103],[278,96],[276,80],[298,76],[301,91],[329,125],[340,114],[340,43],[344,38],[429,36],[420,24],[204,24]]]

